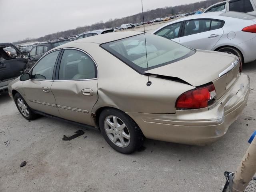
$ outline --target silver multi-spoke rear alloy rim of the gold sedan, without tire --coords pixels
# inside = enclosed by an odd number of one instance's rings
[[[116,116],[108,116],[104,121],[104,129],[108,138],[118,147],[130,144],[130,133],[126,124]]]

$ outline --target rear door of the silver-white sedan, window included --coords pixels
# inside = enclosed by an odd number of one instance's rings
[[[223,35],[224,21],[198,19],[184,23],[180,44],[194,48],[212,50]]]

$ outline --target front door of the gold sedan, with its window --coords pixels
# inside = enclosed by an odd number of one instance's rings
[[[54,66],[59,53],[60,50],[57,50],[44,56],[30,71],[31,79],[22,84],[28,105],[34,110],[54,116],[60,116],[51,91]]]

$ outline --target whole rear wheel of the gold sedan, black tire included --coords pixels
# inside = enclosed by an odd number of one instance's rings
[[[106,142],[120,153],[130,154],[143,144],[144,135],[140,128],[124,112],[113,108],[103,110],[99,125]]]

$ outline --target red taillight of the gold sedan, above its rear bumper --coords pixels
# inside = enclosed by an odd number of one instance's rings
[[[176,101],[178,109],[200,109],[209,106],[216,100],[214,84],[199,87],[181,94]]]

